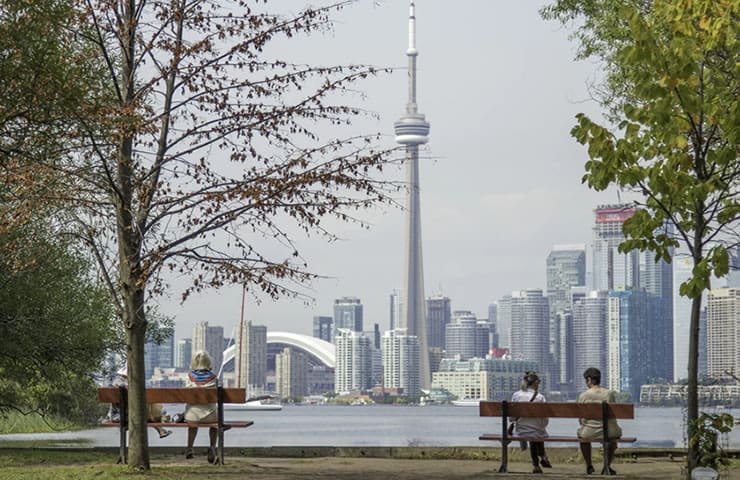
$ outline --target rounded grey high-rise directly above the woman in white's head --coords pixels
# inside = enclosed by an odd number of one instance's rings
[[[511,294],[511,355],[537,363],[538,372],[552,378],[550,307],[540,289]]]

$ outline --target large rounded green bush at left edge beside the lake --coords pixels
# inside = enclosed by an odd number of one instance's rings
[[[40,223],[0,235],[0,249],[16,247],[0,260],[0,411],[89,420],[113,314],[89,265]]]

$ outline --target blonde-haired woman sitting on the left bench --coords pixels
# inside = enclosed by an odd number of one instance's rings
[[[213,363],[208,352],[200,350],[195,352],[190,362],[191,372],[188,374],[187,386],[193,388],[217,388],[218,377],[213,373]],[[185,407],[185,421],[188,423],[216,423],[218,422],[218,405],[215,403],[188,404]],[[188,428],[188,449],[185,458],[193,458],[193,444],[198,434],[196,427]],[[210,446],[208,447],[208,463],[216,461],[216,441],[218,440],[218,429],[209,428],[208,435]]]

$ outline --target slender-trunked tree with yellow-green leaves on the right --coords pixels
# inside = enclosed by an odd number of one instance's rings
[[[602,62],[595,96],[611,125],[584,114],[572,130],[588,146],[583,181],[634,191],[641,207],[624,224],[620,250],[671,261],[683,247],[692,277],[688,438],[697,432],[699,315],[712,277],[728,272],[740,243],[740,2],[736,0],[558,0],[547,19],[574,25],[579,57]],[[670,224],[675,234],[669,234]],[[688,474],[697,466],[690,441]]]

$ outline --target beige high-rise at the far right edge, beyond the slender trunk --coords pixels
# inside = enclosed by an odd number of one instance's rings
[[[707,297],[707,374],[740,372],[740,288],[718,288]]]

